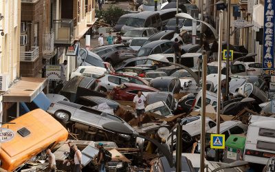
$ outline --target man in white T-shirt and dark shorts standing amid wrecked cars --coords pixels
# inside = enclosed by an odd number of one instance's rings
[[[133,98],[133,109],[137,112],[138,125],[140,126],[140,121],[144,114],[144,109],[146,107],[146,98],[142,95],[142,91],[137,92],[137,96]]]

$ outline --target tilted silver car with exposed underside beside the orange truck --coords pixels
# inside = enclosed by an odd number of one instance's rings
[[[121,122],[126,127],[135,130],[122,118],[111,114],[85,107],[76,103],[59,101],[50,107],[47,112],[52,114],[56,120],[61,122],[74,133],[78,133],[80,138],[90,138],[91,140],[113,140],[119,145],[131,143],[131,137],[128,135],[112,133],[103,129],[102,125],[108,122]],[[133,142],[132,142],[133,143]]]

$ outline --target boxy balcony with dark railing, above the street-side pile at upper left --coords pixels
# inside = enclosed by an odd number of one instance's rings
[[[55,44],[72,44],[74,42],[73,19],[54,20],[53,30]]]

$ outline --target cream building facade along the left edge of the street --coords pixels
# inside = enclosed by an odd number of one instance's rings
[[[21,1],[0,1],[0,121],[3,93],[19,77]]]

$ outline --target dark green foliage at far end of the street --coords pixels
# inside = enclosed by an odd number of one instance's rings
[[[124,10],[118,6],[109,6],[109,8],[101,11],[96,9],[96,17],[103,19],[104,23],[109,25],[115,25],[123,14],[125,14]]]

